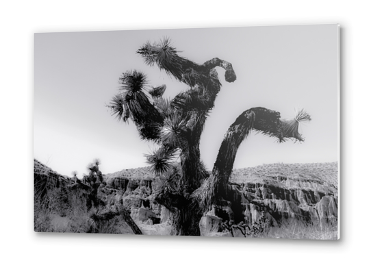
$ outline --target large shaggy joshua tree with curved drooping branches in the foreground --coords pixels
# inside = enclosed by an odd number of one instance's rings
[[[144,62],[158,66],[179,82],[190,86],[173,99],[162,95],[166,86],[148,91],[146,75],[127,71],[119,78],[120,92],[113,97],[110,108],[119,121],[136,125],[140,138],[151,140],[158,149],[146,155],[157,175],[154,200],[172,212],[172,234],[199,236],[199,221],[205,211],[228,200],[227,183],[240,143],[255,130],[277,137],[302,141],[298,123],[310,116],[300,111],[292,121],[284,121],[279,112],[252,108],[243,112],[229,127],[220,146],[212,173],[206,171],[200,155],[200,138],[207,116],[221,88],[216,66],[225,69],[225,80],[234,82],[231,63],[213,58],[196,64],[178,55],[168,39],[147,42],[137,51]],[[179,158],[180,164],[175,162]]]

